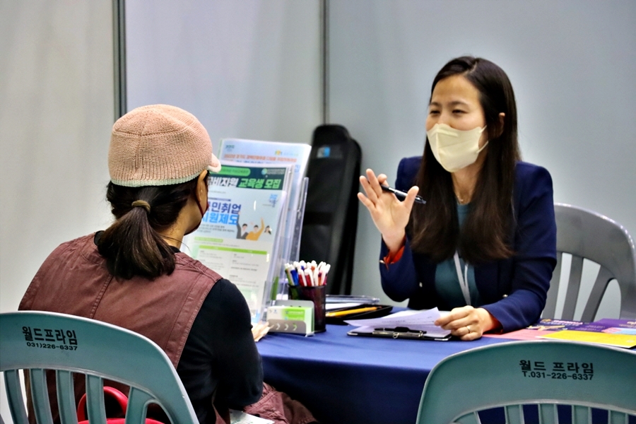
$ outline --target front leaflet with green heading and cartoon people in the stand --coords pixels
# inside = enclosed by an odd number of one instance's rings
[[[208,211],[182,251],[237,285],[258,322],[277,271],[290,166],[221,161],[208,180]]]

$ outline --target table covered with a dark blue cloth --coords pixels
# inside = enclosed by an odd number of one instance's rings
[[[267,334],[257,343],[265,381],[305,404],[322,424],[413,424],[432,367],[453,353],[502,341],[347,336],[353,328],[327,325],[310,337]]]

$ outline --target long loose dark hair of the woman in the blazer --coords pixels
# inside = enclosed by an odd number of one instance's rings
[[[478,175],[470,211],[461,232],[452,177],[437,162],[428,139],[417,184],[427,204],[414,205],[409,230],[411,247],[439,262],[457,250],[471,264],[512,256],[510,230],[514,166],[521,159],[517,142],[517,106],[506,73],[493,62],[458,57],[437,73],[430,90],[449,76],[461,75],[479,91],[488,131],[488,153]],[[499,114],[503,112],[503,127]]]

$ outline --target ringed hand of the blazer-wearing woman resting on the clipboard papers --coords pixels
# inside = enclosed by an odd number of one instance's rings
[[[499,326],[497,319],[482,307],[463,306],[454,308],[440,317],[435,325],[450,330],[453,336],[469,341],[480,338],[486,331]]]

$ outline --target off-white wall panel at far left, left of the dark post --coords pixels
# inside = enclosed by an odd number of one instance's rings
[[[0,312],[57,245],[110,223],[112,57],[111,0],[0,1]]]

